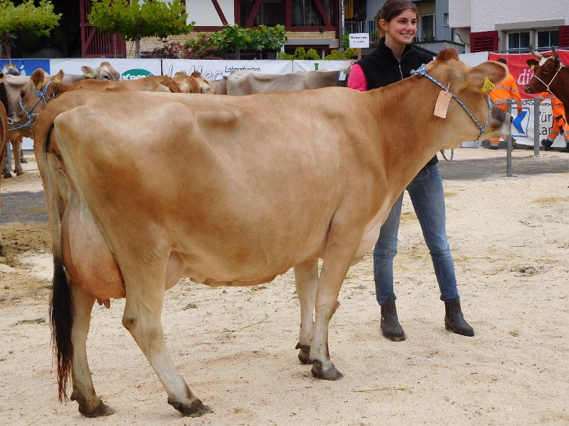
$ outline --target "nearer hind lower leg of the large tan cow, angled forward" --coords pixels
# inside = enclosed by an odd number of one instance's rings
[[[142,281],[139,282],[142,285],[135,287],[129,286],[128,280],[125,284],[127,304],[122,316],[122,325],[129,330],[162,381],[168,394],[168,403],[184,416],[198,417],[210,413],[209,407],[197,399],[188,388],[168,355],[162,322],[160,322],[164,287],[152,287],[151,284],[142,284]]]

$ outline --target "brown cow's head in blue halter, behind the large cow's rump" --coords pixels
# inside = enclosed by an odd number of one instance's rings
[[[35,120],[45,104],[56,96],[62,80],[63,70],[50,77],[43,69],[36,69],[21,89],[21,107],[17,111],[17,120],[14,120],[14,124],[28,122],[30,117]]]

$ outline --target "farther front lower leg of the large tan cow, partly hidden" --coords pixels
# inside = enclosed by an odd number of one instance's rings
[[[314,303],[318,288],[318,259],[294,267],[294,282],[300,303],[300,331],[297,349],[303,364],[311,364],[310,341],[314,334]]]

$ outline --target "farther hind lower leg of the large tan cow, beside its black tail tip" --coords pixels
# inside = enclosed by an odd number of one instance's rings
[[[71,335],[73,342],[71,400],[77,401],[79,412],[84,416],[109,416],[114,413],[114,410],[105,405],[97,396],[87,361],[87,334],[95,298],[73,283],[69,283],[69,287],[73,294],[75,311]]]

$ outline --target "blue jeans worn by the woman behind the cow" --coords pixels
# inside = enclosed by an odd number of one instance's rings
[[[438,165],[423,168],[409,183],[407,192],[411,197],[425,243],[429,247],[433,260],[440,289],[440,300],[458,299],[453,257],[447,241],[447,215]],[[397,254],[397,234],[403,194],[405,191],[394,203],[387,220],[381,226],[379,238],[374,247],[374,281],[376,282],[376,298],[380,305],[385,304],[391,295],[394,295],[393,259]]]

